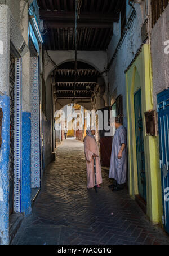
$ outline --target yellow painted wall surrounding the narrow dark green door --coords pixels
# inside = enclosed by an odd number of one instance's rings
[[[162,223],[162,189],[158,137],[146,136],[144,117],[146,111],[153,109],[151,57],[150,48],[147,44],[143,46],[139,57],[126,73],[129,191],[133,199],[138,194],[134,93],[140,88],[145,150],[147,215],[154,224],[157,224]]]

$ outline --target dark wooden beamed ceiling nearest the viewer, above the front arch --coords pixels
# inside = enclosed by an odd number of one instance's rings
[[[124,0],[82,0],[78,50],[106,50]],[[75,0],[37,0],[45,50],[74,50]]]

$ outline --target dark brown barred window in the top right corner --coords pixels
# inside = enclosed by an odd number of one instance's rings
[[[154,27],[168,3],[169,0],[152,0],[152,27]]]

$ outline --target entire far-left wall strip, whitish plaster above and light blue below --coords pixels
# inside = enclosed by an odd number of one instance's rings
[[[0,148],[0,244],[9,241],[9,155],[10,155],[10,99],[9,99],[9,54],[10,12],[0,5],[0,108],[2,108],[2,146]]]

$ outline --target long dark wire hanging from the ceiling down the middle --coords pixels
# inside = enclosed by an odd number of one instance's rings
[[[74,102],[75,102],[75,86],[77,82],[77,23],[80,18],[82,0],[75,0],[75,67],[74,67]]]

